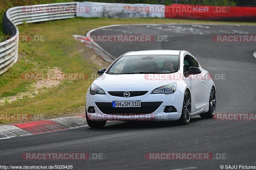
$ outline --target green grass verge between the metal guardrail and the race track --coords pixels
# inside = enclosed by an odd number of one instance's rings
[[[104,25],[139,23],[256,24],[166,18],[72,18],[19,25],[20,35],[43,35],[45,41],[19,43],[18,62],[0,76],[0,97],[28,91],[33,81],[22,80],[21,74],[43,73],[46,67],[58,67],[63,73],[85,73],[89,77],[96,74],[100,67],[89,59],[94,53],[76,41],[72,34],[84,35],[87,31]],[[99,59],[99,62],[102,61]],[[43,118],[46,119],[79,112],[84,109],[85,94],[91,83],[92,80],[64,81],[59,87],[34,98],[25,97],[12,103],[6,102],[4,106],[0,106],[0,114],[27,113],[32,116],[44,115]],[[10,122],[0,120],[1,123]]]

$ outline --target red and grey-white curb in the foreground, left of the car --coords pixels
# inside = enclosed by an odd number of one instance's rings
[[[0,126],[0,139],[88,126],[85,115]]]

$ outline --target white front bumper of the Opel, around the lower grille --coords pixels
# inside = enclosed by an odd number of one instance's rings
[[[137,114],[133,111],[133,113],[125,114],[125,113],[115,113],[109,114],[106,113],[106,109],[103,111],[102,108],[98,107],[99,103],[112,103],[112,101],[141,101],[141,103],[157,103],[162,102],[160,106],[149,114]],[[98,106],[97,106],[98,104]],[[147,94],[143,96],[135,96],[135,97],[118,97],[111,96],[106,92],[106,95],[90,95],[89,91],[86,94],[86,111],[87,116],[90,120],[95,121],[105,121],[105,120],[138,120],[138,121],[175,121],[179,120],[182,112],[183,105],[183,92],[176,89],[176,91],[171,95],[165,94]],[[95,113],[89,113],[88,107],[94,107]],[[110,105],[111,106],[111,105]],[[164,108],[166,106],[174,106],[176,112],[165,113]],[[120,108],[119,108],[120,109]],[[126,108],[127,109],[127,108]],[[112,108],[109,108],[112,110]],[[105,113],[104,113],[105,112]]]

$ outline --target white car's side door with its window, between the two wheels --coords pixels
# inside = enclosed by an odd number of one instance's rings
[[[189,67],[195,67],[195,64],[191,58],[190,55],[185,55],[184,61],[183,61],[183,72],[184,75],[188,72]],[[192,114],[196,114],[196,112],[200,111],[203,107],[202,103],[202,90],[203,86],[201,83],[201,80],[198,80],[198,75],[188,75],[185,76],[185,80],[190,86],[190,92],[191,92],[191,112]]]

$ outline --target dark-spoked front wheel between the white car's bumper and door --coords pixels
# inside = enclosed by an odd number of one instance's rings
[[[180,119],[178,120],[179,124],[186,125],[189,123],[191,117],[191,96],[188,89],[185,91],[183,106]]]

